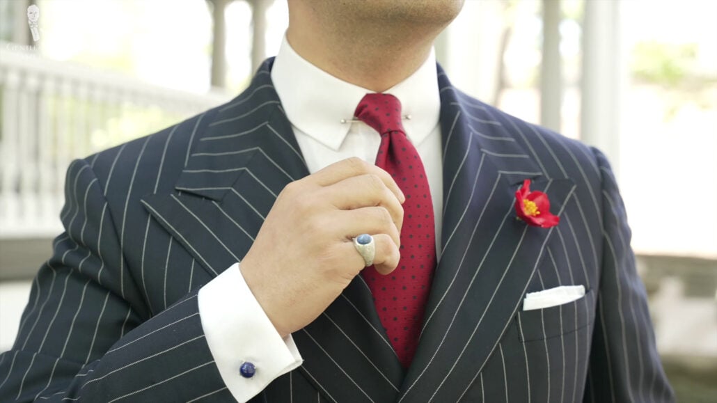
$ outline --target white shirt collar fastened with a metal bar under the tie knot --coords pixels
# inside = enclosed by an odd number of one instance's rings
[[[286,116],[295,128],[333,150],[338,150],[351,124],[356,105],[372,91],[340,80],[320,70],[282,40],[271,72],[272,81]],[[420,144],[438,124],[440,92],[435,52],[406,80],[386,90],[402,104],[404,128],[414,145]],[[364,123],[360,123],[364,124]]]

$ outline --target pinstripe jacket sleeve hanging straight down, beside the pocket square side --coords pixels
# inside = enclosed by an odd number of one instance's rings
[[[584,401],[674,402],[635,268],[625,205],[607,158],[593,151],[602,175],[603,255]]]

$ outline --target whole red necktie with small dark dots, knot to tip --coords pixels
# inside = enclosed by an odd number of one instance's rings
[[[366,94],[356,118],[381,134],[376,166],[393,176],[404,192],[401,260],[394,272],[380,275],[373,266],[363,275],[374,295],[386,335],[408,368],[418,346],[423,315],[436,267],[433,201],[426,171],[401,123],[401,102],[389,94]]]

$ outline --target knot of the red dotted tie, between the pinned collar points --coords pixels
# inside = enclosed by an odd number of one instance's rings
[[[406,133],[401,123],[401,101],[391,94],[366,94],[353,113],[383,136],[391,131]]]

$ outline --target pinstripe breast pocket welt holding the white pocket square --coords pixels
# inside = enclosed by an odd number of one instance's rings
[[[563,305],[518,312],[518,336],[521,341],[543,340],[579,331],[592,325],[595,315],[593,290],[585,296]]]

